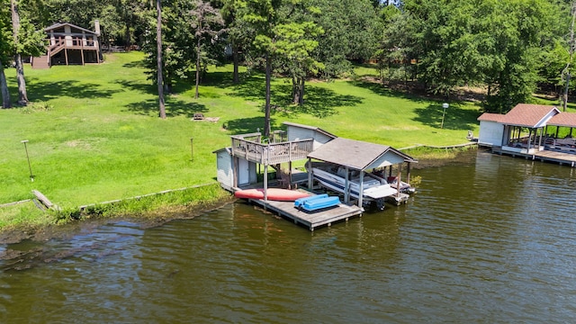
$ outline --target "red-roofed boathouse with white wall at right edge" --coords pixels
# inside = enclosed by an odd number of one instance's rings
[[[478,117],[478,145],[500,154],[576,165],[575,112],[551,105],[518,103],[506,114]]]

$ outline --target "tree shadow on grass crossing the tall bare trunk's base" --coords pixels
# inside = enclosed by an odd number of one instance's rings
[[[194,113],[206,113],[208,109],[203,104],[186,103],[182,100],[166,96],[166,117],[186,116],[186,118],[193,118]],[[127,112],[135,112],[144,116],[158,116],[160,108],[155,100],[146,100],[139,103],[130,103],[126,105]]]

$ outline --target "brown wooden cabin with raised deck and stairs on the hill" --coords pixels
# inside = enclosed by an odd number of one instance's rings
[[[44,29],[48,47],[46,55],[31,58],[32,68],[53,65],[85,65],[100,63],[103,59],[98,37],[100,23],[94,21],[94,31],[72,23],[55,23]]]

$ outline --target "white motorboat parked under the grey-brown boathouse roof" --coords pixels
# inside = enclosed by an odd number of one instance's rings
[[[314,179],[317,180],[320,185],[338,193],[345,193],[346,171],[342,167],[312,167],[311,170]],[[355,174],[355,172],[352,172],[351,175],[349,175],[348,182],[350,196],[358,199],[360,193],[359,175]],[[384,201],[386,197],[399,197],[398,189],[393,188],[391,184],[388,184],[382,177],[366,173],[362,183],[362,199],[364,205],[368,205],[371,202],[376,202],[377,208],[382,210],[384,208]],[[401,193],[401,195],[402,198],[407,196],[405,193]]]

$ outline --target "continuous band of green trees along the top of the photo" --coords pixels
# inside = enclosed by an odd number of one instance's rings
[[[0,59],[32,55],[40,31],[66,21],[102,25],[103,44],[138,45],[157,80],[156,4],[150,0],[19,0],[18,41],[9,37],[10,1],[1,0]],[[292,102],[305,104],[310,77],[332,78],[356,63],[376,60],[383,86],[403,83],[451,97],[463,86],[484,89],[486,111],[507,112],[545,91],[559,96],[570,75],[574,1],[567,0],[163,0],[162,86],[202,82],[211,64],[234,62],[266,72],[266,124],[270,80],[293,81]],[[223,21],[209,31],[200,4]],[[215,37],[214,35],[218,35]],[[224,48],[227,48],[226,50]],[[225,55],[228,53],[229,57]],[[572,89],[576,86],[571,85]],[[4,92],[3,92],[4,93]],[[267,126],[265,127],[265,130]]]

